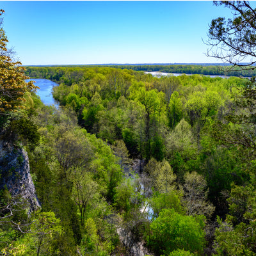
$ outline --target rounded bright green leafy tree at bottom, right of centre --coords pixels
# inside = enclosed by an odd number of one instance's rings
[[[163,209],[152,221],[148,244],[157,255],[169,255],[173,250],[183,249],[202,253],[204,249],[204,219],[184,216],[174,209]]]

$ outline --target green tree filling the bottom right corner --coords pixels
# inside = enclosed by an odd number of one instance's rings
[[[255,255],[256,248],[256,191],[252,184],[232,184],[228,200],[229,212],[225,221],[218,218],[215,232],[217,255]]]

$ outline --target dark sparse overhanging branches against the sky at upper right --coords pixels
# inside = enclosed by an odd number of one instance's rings
[[[234,17],[212,20],[207,42],[211,48],[207,56],[227,61],[241,69],[256,63],[256,9],[250,6],[249,1],[214,1],[214,4],[224,4],[234,11]]]

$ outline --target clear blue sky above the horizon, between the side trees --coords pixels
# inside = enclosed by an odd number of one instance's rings
[[[212,1],[0,1],[23,65],[214,63],[205,56]],[[230,16],[231,17],[231,16]]]

